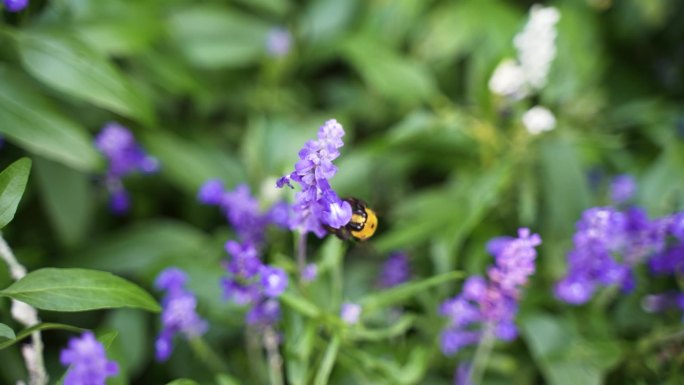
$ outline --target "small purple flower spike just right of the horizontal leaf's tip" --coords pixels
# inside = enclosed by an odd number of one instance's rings
[[[207,321],[197,314],[197,298],[185,289],[187,276],[175,267],[162,271],[155,286],[165,290],[162,300],[162,331],[155,342],[157,361],[166,361],[173,351],[173,337],[181,333],[186,338],[200,336],[207,331]]]

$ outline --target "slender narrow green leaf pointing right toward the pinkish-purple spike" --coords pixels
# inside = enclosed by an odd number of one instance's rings
[[[359,304],[364,311],[371,311],[377,308],[392,306],[397,303],[406,301],[407,299],[416,296],[418,293],[427,290],[433,286],[441,285],[445,282],[461,279],[465,274],[461,271],[452,271],[430,277],[417,282],[408,282],[402,285],[394,286],[387,290],[377,293],[369,294],[363,297]]]

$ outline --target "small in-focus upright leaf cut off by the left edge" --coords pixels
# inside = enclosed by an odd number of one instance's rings
[[[0,229],[14,218],[30,171],[31,159],[21,158],[0,173]]]

